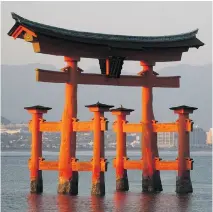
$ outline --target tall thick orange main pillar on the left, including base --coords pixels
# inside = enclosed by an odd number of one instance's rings
[[[65,57],[69,75],[65,86],[65,105],[62,116],[61,146],[59,155],[58,193],[78,194],[78,172],[72,171],[72,161],[76,157],[76,132],[73,131],[73,118],[77,117],[77,62],[79,58]]]

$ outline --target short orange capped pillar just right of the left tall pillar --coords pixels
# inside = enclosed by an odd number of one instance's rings
[[[101,119],[103,114],[112,108],[112,105],[96,103],[87,105],[91,112],[94,113],[94,140],[93,140],[93,159],[92,159],[92,190],[91,194],[96,196],[105,195],[105,178],[104,172],[101,171],[101,161],[105,161],[103,151],[103,136],[101,134]]]

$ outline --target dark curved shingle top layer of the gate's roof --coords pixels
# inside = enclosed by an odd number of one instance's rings
[[[113,47],[122,47],[120,42],[125,42],[127,46],[136,48],[136,45],[140,43],[143,47],[199,47],[204,45],[200,40],[196,38],[197,30],[182,33],[178,35],[168,35],[168,36],[126,36],[126,35],[111,35],[111,34],[101,34],[101,33],[91,33],[91,32],[80,32],[74,30],[67,30],[63,28],[53,27],[41,23],[36,23],[21,16],[12,13],[13,19],[16,20],[16,24],[8,32],[8,35],[12,35],[14,30],[18,25],[23,25],[35,33],[41,33],[52,37],[68,39],[68,40],[78,40],[86,41],[87,43],[94,44],[108,44]],[[186,41],[186,42],[184,42]],[[167,43],[167,44],[165,44]],[[172,45],[168,46],[168,43]],[[135,45],[134,45],[135,44]],[[125,46],[125,47],[127,47]],[[140,46],[140,49],[142,48]],[[139,47],[137,48],[139,49]]]

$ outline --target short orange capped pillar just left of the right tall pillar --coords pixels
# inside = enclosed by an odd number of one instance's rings
[[[126,133],[123,130],[123,124],[126,123],[126,115],[129,115],[132,109],[121,107],[110,110],[113,115],[117,116],[116,124],[116,191],[128,191],[129,182],[127,170],[124,169],[124,160],[127,158],[126,154]]]

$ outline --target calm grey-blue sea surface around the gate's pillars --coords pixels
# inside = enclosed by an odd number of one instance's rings
[[[194,193],[179,196],[175,193],[175,171],[161,171],[163,192],[155,195],[141,193],[140,171],[128,171],[130,191],[115,192],[115,171],[112,168],[114,152],[107,152],[110,162],[105,174],[106,196],[95,198],[90,195],[91,173],[79,174],[79,194],[76,197],[57,195],[58,173],[43,172],[44,193],[29,193],[29,171],[27,152],[1,153],[1,209],[2,212],[209,212],[212,211],[212,153],[210,151],[192,152],[194,170],[191,171]],[[165,160],[175,159],[176,152],[160,152]],[[57,153],[44,152],[48,160],[57,159]],[[140,152],[129,152],[130,159],[139,159]],[[78,153],[79,160],[90,160],[91,152]]]

